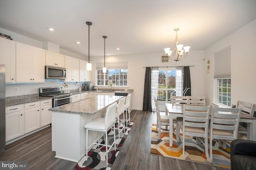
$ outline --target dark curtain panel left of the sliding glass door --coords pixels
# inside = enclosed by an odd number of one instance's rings
[[[143,111],[152,112],[151,105],[151,68],[146,67],[145,81],[144,81],[144,97],[143,97]]]

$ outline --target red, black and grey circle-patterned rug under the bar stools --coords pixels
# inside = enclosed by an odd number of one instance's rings
[[[123,121],[120,120],[120,128],[123,126],[125,126],[125,128],[120,132],[120,139],[118,139],[118,131],[116,129],[116,151],[113,146],[108,152],[108,165],[106,164],[106,146],[94,145],[88,152],[88,160],[86,161],[86,156],[84,156],[78,164],[76,164],[74,170],[110,170],[133,124],[134,122],[128,122],[128,128],[126,128],[126,123],[124,125]],[[116,128],[118,128],[117,124]],[[110,144],[112,144],[113,141],[114,132],[113,130],[108,130],[108,143],[110,142]],[[100,142],[102,144],[105,143],[103,137],[100,139]]]

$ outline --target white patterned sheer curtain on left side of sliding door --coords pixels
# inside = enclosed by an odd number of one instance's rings
[[[154,102],[154,98],[157,98],[158,92],[158,67],[151,67],[151,104],[152,104],[152,112],[156,112],[156,105]]]

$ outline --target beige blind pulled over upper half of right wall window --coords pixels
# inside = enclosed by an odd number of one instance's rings
[[[231,78],[230,60],[230,47],[214,53],[214,78]]]

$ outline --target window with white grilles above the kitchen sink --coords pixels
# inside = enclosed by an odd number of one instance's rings
[[[127,86],[127,68],[107,69],[106,73],[102,69],[96,69],[96,76],[98,86],[108,86],[110,83],[113,86]]]

